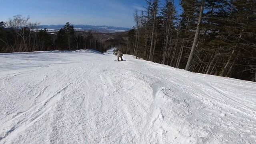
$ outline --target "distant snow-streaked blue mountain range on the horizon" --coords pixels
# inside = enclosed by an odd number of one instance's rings
[[[50,32],[57,32],[60,28],[63,28],[64,24],[59,25],[42,25],[41,28],[47,28]],[[113,32],[125,32],[130,30],[130,28],[116,27],[116,26],[93,26],[93,25],[74,25],[75,30],[79,31],[96,31],[101,33],[113,33]]]

